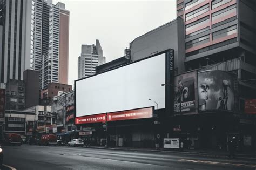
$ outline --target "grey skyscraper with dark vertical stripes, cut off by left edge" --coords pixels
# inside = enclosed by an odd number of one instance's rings
[[[37,38],[40,29],[35,1],[0,0],[0,82],[23,79],[23,71],[36,70]],[[39,2],[38,2],[39,4]]]

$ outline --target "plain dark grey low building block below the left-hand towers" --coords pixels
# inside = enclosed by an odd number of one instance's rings
[[[26,104],[29,108],[39,104],[39,72],[33,70],[25,70],[23,72],[23,79],[26,86]]]

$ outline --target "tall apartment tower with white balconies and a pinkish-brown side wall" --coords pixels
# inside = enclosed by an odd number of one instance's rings
[[[45,11],[48,13],[48,8],[45,7]],[[44,17],[43,25],[49,25],[49,33],[43,35],[43,46],[47,50],[43,49],[45,53],[41,60],[41,89],[46,89],[51,82],[68,84],[69,11],[65,10],[63,3],[50,4],[48,24],[48,15]]]

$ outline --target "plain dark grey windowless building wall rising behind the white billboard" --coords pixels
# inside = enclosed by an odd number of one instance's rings
[[[159,26],[131,42],[131,61],[136,61],[157,52],[174,50],[174,69],[176,73],[185,71],[184,60],[184,21],[181,18]]]

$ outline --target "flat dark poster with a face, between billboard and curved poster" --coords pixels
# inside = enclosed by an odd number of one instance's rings
[[[192,113],[195,108],[194,79],[196,72],[181,74],[174,77],[174,113]]]

